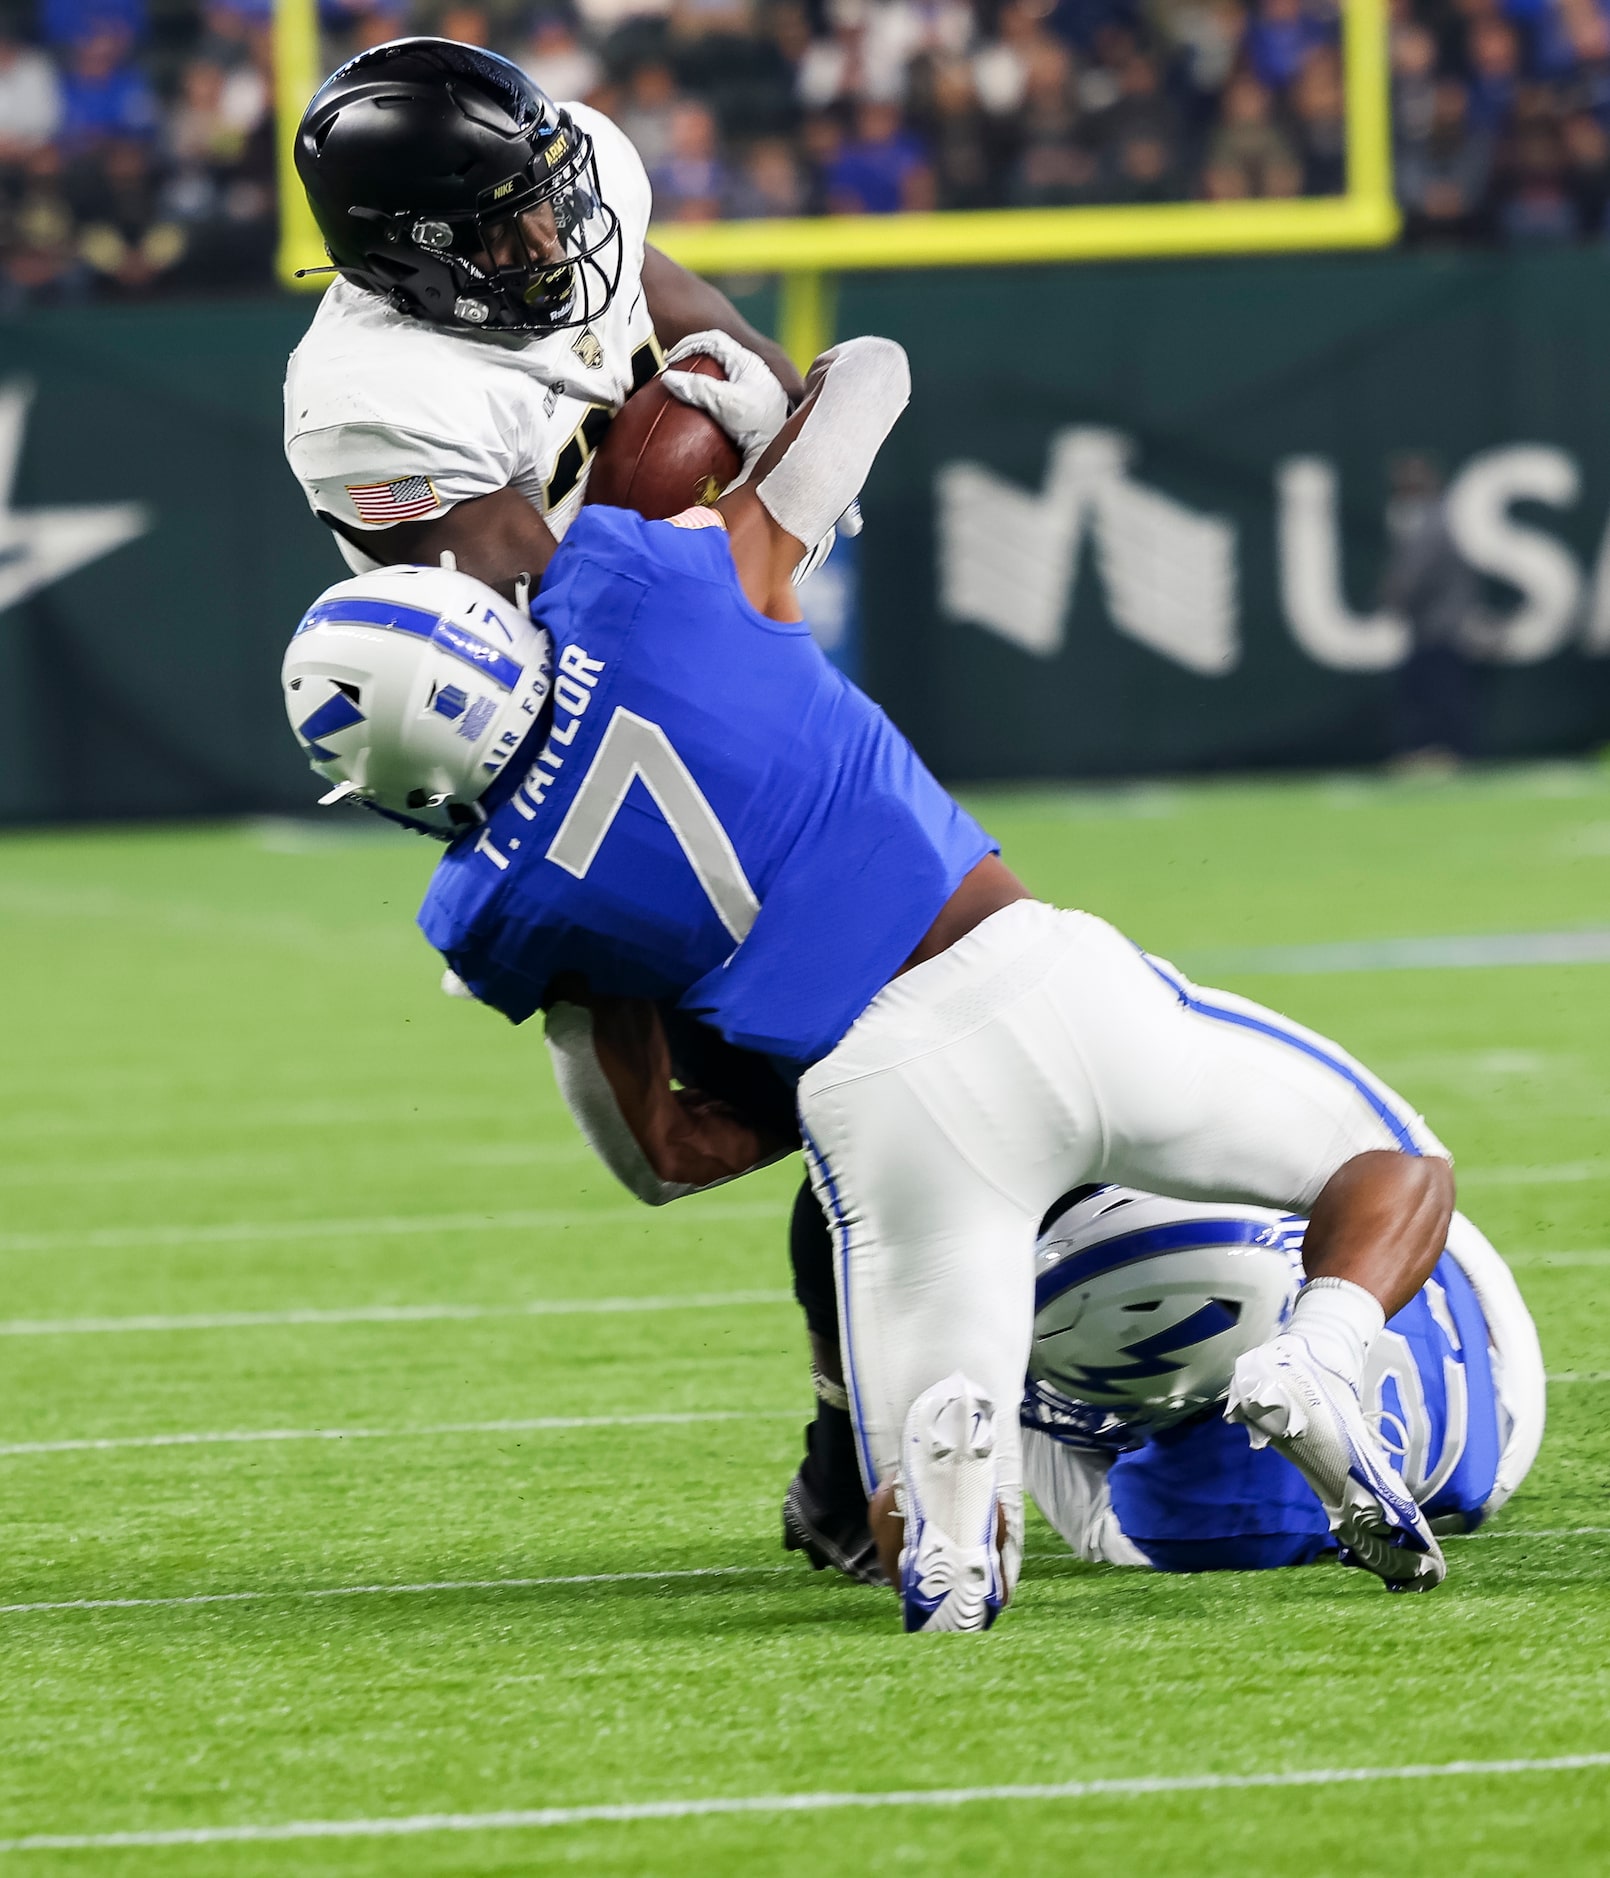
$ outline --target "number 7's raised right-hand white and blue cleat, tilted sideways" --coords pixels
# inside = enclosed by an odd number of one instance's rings
[[[1388,1591],[1432,1591],[1448,1576],[1415,1495],[1371,1433],[1353,1388],[1287,1333],[1240,1358],[1225,1420],[1253,1446],[1272,1446],[1324,1504],[1341,1562],[1386,1581]]]

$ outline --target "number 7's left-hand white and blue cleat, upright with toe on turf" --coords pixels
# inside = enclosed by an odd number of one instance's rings
[[[900,1501],[906,1628],[988,1630],[1007,1602],[996,1542],[996,1405],[960,1371],[911,1403]]]

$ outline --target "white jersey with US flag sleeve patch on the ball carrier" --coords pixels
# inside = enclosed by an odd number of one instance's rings
[[[286,458],[316,515],[370,531],[513,486],[554,535],[569,528],[609,419],[661,355],[642,295],[642,162],[603,113],[564,109],[592,137],[599,192],[620,216],[620,287],[603,317],[462,332],[336,280],[286,370]],[[379,565],[333,533],[355,573]]]

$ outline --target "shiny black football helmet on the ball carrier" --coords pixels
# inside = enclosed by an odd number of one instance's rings
[[[302,113],[297,175],[336,269],[415,319],[584,327],[620,285],[592,137],[475,45],[393,39],[349,58]]]

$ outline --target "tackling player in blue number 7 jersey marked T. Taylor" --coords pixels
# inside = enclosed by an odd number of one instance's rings
[[[851,340],[714,509],[590,509],[530,616],[447,569],[333,588],[286,654],[310,762],[451,845],[421,911],[472,992],[547,1012],[586,1132],[650,1200],[787,1151],[676,1091],[656,1001],[795,1084],[836,1245],[872,1531],[907,1628],[981,1630],[1022,1555],[1035,1234],[1123,1181],[1309,1217],[1229,1414],[1351,1559],[1445,1576],[1358,1388],[1452,1217],[1447,1151],[1343,1050],[1045,905],[815,648],[789,577],[909,394]]]

